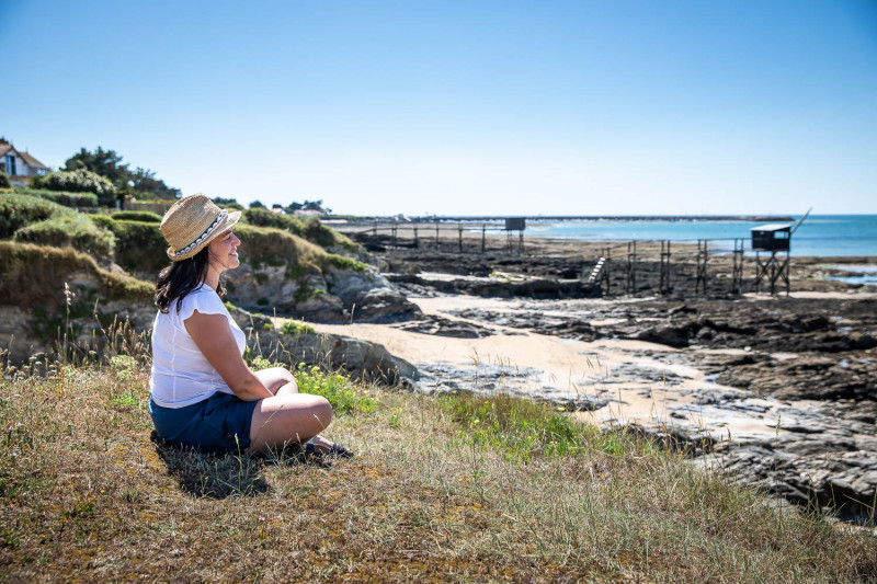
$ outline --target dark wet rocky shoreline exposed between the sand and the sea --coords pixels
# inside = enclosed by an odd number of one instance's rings
[[[694,252],[680,249],[673,284],[659,295],[659,262],[642,253],[636,266],[638,289],[622,294],[627,274],[619,270],[610,287],[615,295],[606,296],[581,278],[600,249],[532,239],[521,255],[376,250],[385,277],[414,302],[500,299],[490,308],[409,314],[392,324],[397,330],[460,340],[538,334],[596,347],[637,343],[636,348],[622,345],[620,360],[605,375],[578,379],[583,391],[569,392],[556,382],[536,381],[534,387],[539,371],[525,364],[511,371],[492,364],[472,368],[417,362],[422,375],[418,387],[463,390],[472,387],[476,376],[479,391],[502,386],[589,412],[599,422],[626,423],[687,448],[698,463],[719,468],[740,483],[831,509],[844,519],[873,520],[877,290],[825,276],[844,275],[844,265],[877,260],[793,257],[791,295],[772,297],[733,294],[729,256],[710,259],[706,291],[697,289]],[[754,267],[749,261],[751,280]],[[586,351],[582,358],[588,358]],[[650,365],[638,365],[638,359]],[[699,374],[674,373],[686,367]],[[677,401],[661,415],[620,420],[613,411],[630,401],[628,389],[648,399],[654,386]]]

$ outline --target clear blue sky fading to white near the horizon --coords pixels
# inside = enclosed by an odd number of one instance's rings
[[[0,135],[390,215],[877,213],[877,3],[0,0]]]

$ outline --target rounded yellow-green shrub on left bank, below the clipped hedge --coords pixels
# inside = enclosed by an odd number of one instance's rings
[[[15,241],[64,248],[98,257],[113,257],[116,238],[111,231],[96,226],[87,216],[71,213],[55,215],[44,221],[31,224],[15,231]]]

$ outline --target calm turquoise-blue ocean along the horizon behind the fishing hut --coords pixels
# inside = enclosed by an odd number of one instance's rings
[[[715,251],[733,248],[734,238],[747,240],[750,229],[763,225],[752,221],[671,220],[671,219],[528,219],[525,234],[585,241],[698,239],[711,242]],[[791,237],[791,255],[822,257],[840,255],[877,256],[877,215],[811,215]]]

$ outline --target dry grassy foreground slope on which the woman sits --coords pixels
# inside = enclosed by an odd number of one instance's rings
[[[867,531],[529,402],[300,370],[357,453],[316,465],[157,446],[134,356],[2,374],[0,580],[877,580]]]

